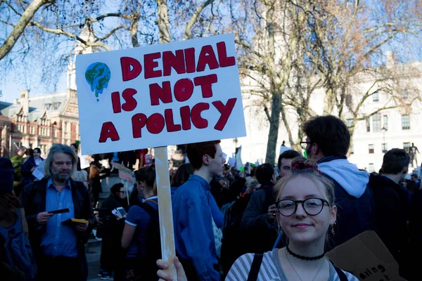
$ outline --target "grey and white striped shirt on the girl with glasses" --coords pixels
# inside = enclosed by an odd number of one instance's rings
[[[246,281],[248,280],[250,266],[252,266],[254,254],[244,254],[238,258],[233,266],[231,266],[226,281]],[[359,281],[357,277],[351,273],[343,271],[349,281]],[[262,259],[260,273],[258,273],[257,281],[288,281],[286,275],[281,268],[279,259],[279,249],[267,251]],[[333,264],[330,262],[330,277],[328,281],[340,281]]]

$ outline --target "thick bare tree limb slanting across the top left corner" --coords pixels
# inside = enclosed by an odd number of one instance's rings
[[[4,58],[8,52],[11,51],[13,46],[15,46],[16,42],[18,41],[20,35],[23,34],[25,31],[25,27],[27,27],[28,23],[34,18],[35,13],[37,13],[38,9],[44,6],[47,3],[52,3],[54,1],[49,0],[34,0],[27,7],[25,12],[20,16],[18,23],[13,27],[13,31],[7,37],[6,41],[0,46],[0,60]]]

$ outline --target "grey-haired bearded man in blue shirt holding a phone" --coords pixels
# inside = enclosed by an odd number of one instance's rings
[[[84,244],[94,216],[87,188],[70,178],[76,163],[72,148],[53,145],[44,164],[46,177],[25,186],[20,195],[37,257],[37,280],[87,280]],[[68,210],[58,211],[62,209]]]

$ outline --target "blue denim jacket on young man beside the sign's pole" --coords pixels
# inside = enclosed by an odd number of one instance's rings
[[[191,175],[172,197],[174,240],[177,255],[191,261],[201,281],[219,281],[214,269],[218,263],[215,251],[210,184]]]

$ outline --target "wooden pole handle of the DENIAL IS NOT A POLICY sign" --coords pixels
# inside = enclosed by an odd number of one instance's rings
[[[170,189],[169,161],[167,156],[167,146],[154,148],[155,150],[155,172],[158,194],[158,214],[160,215],[160,236],[161,236],[161,256],[167,261],[169,268],[165,270],[167,274],[177,281],[176,268],[174,267],[174,229],[172,213],[172,193]]]

